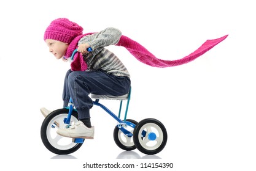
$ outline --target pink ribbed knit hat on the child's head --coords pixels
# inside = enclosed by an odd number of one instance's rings
[[[50,23],[44,32],[45,39],[71,43],[74,38],[83,34],[83,28],[67,18],[58,18]]]

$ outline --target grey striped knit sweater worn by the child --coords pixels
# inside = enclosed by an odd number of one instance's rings
[[[79,45],[88,43],[93,49],[90,53],[83,54],[83,60],[87,63],[88,70],[103,70],[109,74],[130,78],[130,74],[121,60],[105,48],[106,46],[117,44],[121,35],[122,32],[118,29],[107,27],[103,31],[86,35],[79,40]]]

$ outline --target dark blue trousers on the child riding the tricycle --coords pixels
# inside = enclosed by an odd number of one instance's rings
[[[79,114],[79,120],[90,118],[93,101],[89,94],[120,96],[129,92],[130,78],[115,76],[104,71],[71,71],[64,79],[63,106],[68,106],[71,97]]]

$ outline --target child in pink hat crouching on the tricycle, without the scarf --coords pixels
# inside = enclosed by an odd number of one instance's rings
[[[82,32],[83,28],[77,23],[67,18],[58,18],[47,27],[44,40],[50,53],[56,59],[64,61],[65,57],[70,57],[67,54],[73,50],[74,44],[77,45],[77,51],[82,54],[82,59],[87,64],[87,70],[68,70],[64,78],[63,106],[68,106],[71,97],[79,115],[79,122],[69,128],[58,129],[57,133],[65,137],[93,139],[94,126],[90,122],[93,101],[89,94],[125,95],[130,90],[131,81],[125,65],[114,53],[104,48],[118,43],[122,33],[108,27],[76,40],[81,37]],[[89,47],[91,52],[87,51]],[[46,116],[50,111],[42,108],[41,112]]]

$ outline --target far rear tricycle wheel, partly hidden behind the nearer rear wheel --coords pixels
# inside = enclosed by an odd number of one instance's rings
[[[126,121],[134,123],[135,125],[138,123],[135,120],[131,120],[131,119],[126,119]],[[127,126],[129,126],[129,125],[127,125]],[[131,126],[129,126],[129,127],[131,129],[134,129]],[[133,133],[133,130],[130,131],[130,132]],[[113,136],[114,136],[115,144],[117,144],[117,146],[122,148],[123,150],[131,151],[131,150],[136,149],[136,146],[134,145],[134,142],[131,142],[131,140],[133,141],[133,136],[131,136],[131,137],[126,136],[118,128],[118,126],[115,126]],[[123,137],[121,137],[121,136],[123,136]],[[126,139],[126,142],[123,139]],[[128,141],[130,141],[130,142],[128,142]]]

